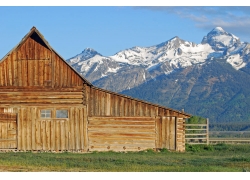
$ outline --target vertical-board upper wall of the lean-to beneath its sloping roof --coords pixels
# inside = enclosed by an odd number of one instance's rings
[[[85,89],[89,116],[184,117],[181,112],[105,91],[93,86],[86,86]]]

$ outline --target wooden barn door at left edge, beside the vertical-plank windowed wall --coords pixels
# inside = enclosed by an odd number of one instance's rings
[[[17,148],[17,115],[0,113],[0,149]]]

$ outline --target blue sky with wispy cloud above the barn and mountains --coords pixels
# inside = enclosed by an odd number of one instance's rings
[[[64,59],[87,47],[110,56],[133,46],[156,45],[174,36],[200,43],[216,26],[250,42],[250,6],[0,5],[0,58],[32,26]]]

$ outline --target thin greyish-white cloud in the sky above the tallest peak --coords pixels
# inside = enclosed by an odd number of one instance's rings
[[[186,18],[197,28],[206,31],[220,26],[228,32],[249,39],[250,6],[161,6],[143,7],[154,11],[163,11]]]

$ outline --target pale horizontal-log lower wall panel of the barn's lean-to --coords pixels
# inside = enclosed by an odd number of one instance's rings
[[[152,117],[89,117],[90,151],[140,151],[155,148]]]

